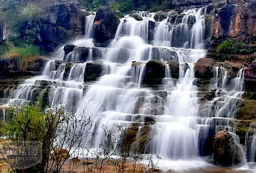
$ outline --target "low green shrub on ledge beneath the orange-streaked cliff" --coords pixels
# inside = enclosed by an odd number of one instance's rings
[[[232,40],[223,41],[221,45],[217,47],[217,53],[223,54],[237,54],[246,50],[245,43],[236,42]]]

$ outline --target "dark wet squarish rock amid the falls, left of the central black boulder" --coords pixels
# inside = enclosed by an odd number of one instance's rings
[[[96,81],[101,75],[103,75],[104,65],[103,63],[87,63],[85,67],[84,81]]]

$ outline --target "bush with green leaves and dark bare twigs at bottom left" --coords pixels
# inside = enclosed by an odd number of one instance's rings
[[[84,114],[67,114],[63,107],[41,111],[40,104],[26,103],[9,108],[8,122],[0,123],[0,136],[12,141],[42,142],[43,161],[25,172],[60,172],[67,159],[83,148],[90,128],[91,121]],[[0,154],[4,156],[1,150]]]

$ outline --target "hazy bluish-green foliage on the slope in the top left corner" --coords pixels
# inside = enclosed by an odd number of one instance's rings
[[[6,21],[7,27],[13,31],[15,46],[20,43],[34,44],[40,36],[40,17],[43,15],[43,9],[39,6],[27,3],[17,3],[10,0],[1,5],[2,18]],[[15,36],[18,35],[18,36]]]

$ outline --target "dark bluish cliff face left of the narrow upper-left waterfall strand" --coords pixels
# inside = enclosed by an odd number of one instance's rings
[[[38,1],[45,9],[41,17],[41,45],[53,51],[63,41],[84,34],[87,11],[77,1]]]

